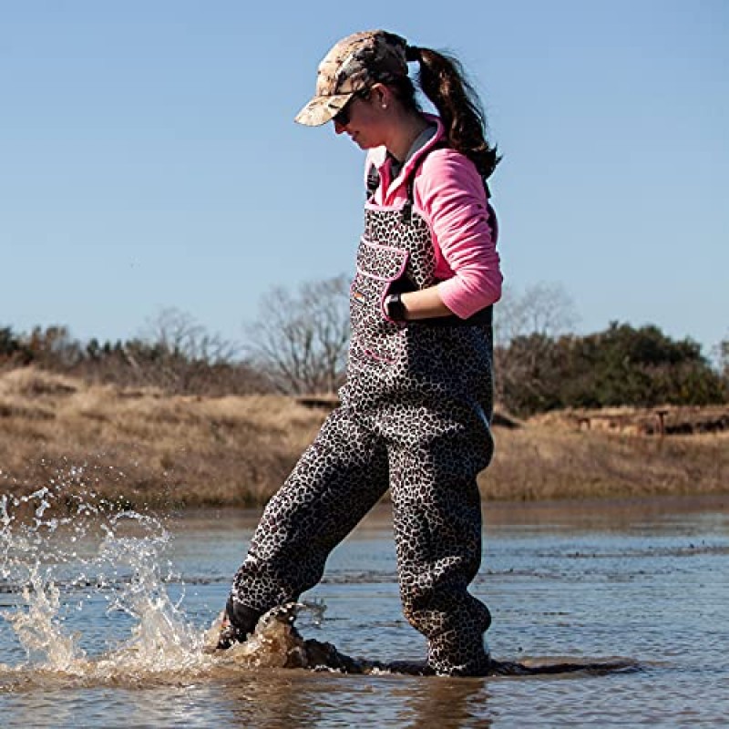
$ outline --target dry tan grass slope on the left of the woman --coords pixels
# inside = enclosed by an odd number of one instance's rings
[[[2,491],[65,480],[134,505],[252,506],[322,420],[276,395],[163,396],[14,371],[0,376]]]

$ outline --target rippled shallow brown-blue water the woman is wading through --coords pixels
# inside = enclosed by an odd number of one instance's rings
[[[499,659],[625,658],[640,670],[442,679],[281,666],[272,642],[202,651],[255,516],[93,513],[57,494],[0,510],[4,726],[724,726],[729,720],[729,498],[485,507]],[[46,503],[48,506],[43,507]],[[22,508],[33,519],[21,524]],[[38,512],[40,511],[40,515]],[[417,660],[400,613],[388,509],[337,549],[305,637],[349,655]],[[56,519],[56,520],[55,520]],[[30,586],[30,587],[28,587]],[[26,594],[21,591],[26,588]]]

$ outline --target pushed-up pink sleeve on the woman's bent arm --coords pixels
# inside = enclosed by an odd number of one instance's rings
[[[427,156],[416,175],[416,203],[425,213],[436,246],[453,272],[438,284],[448,309],[461,319],[501,297],[494,215],[489,219],[483,182],[473,163],[453,149]]]

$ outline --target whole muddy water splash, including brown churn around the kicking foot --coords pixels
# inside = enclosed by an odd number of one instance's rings
[[[0,584],[15,598],[0,616],[26,654],[14,666],[0,664],[0,689],[175,683],[221,669],[308,664],[302,639],[280,610],[264,616],[245,644],[211,654],[206,645],[211,634],[217,638],[216,625],[206,635],[186,616],[184,591],[178,601],[169,596],[169,583],[182,580],[165,559],[171,535],[164,519],[98,503],[92,490],[79,488],[83,467],[71,476],[27,496],[0,497]],[[108,625],[84,621],[102,599]],[[317,622],[324,607],[289,606],[287,614],[302,610]],[[114,640],[109,635],[118,632],[120,617],[128,631]],[[102,652],[82,647],[90,622],[101,633]]]

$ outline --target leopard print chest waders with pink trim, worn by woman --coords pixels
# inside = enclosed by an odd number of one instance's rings
[[[387,293],[433,285],[435,267],[430,231],[411,203],[367,205],[341,406],[255,531],[228,608],[241,631],[321,580],[330,551],[390,488],[403,610],[428,640],[429,666],[488,671],[490,615],[467,586],[481,560],[476,477],[493,451],[490,309],[465,325],[395,323],[383,312]]]

